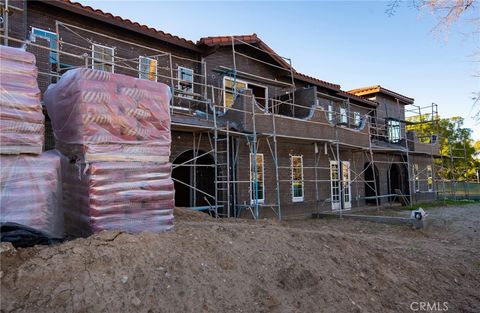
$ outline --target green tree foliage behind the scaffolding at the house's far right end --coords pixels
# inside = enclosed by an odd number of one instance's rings
[[[475,180],[480,160],[480,142],[472,139],[472,130],[463,127],[462,117],[434,119],[428,114],[409,118],[407,130],[415,131],[420,142],[430,143],[432,137],[440,145],[440,155],[435,159],[437,178],[447,180]]]

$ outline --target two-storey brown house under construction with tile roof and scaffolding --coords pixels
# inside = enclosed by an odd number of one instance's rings
[[[256,34],[194,43],[68,0],[2,1],[2,43],[36,55],[42,92],[78,67],[171,87],[177,206],[281,219],[436,197],[438,140],[406,129],[412,112],[434,123],[434,104],[380,85],[344,91]]]

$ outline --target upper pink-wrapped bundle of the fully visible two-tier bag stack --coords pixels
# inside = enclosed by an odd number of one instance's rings
[[[58,149],[107,156],[99,160],[138,155],[167,161],[170,98],[165,84],[93,69],[68,71],[44,95]]]

